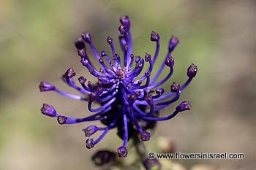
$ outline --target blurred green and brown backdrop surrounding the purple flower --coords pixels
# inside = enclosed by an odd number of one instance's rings
[[[72,92],[60,79],[70,66],[78,75],[90,77],[72,42],[90,31],[97,50],[109,51],[105,39],[118,40],[121,15],[132,20],[136,55],[154,53],[149,37],[152,30],[160,34],[158,64],[167,53],[170,36],[178,36],[171,82],[185,82],[190,63],[199,69],[178,101],[192,101],[192,110],[159,124],[151,141],[165,136],[179,152],[245,153],[244,160],[177,161],[187,169],[198,163],[217,169],[255,169],[256,15],[255,1],[249,0],[0,0],[0,169],[96,169],[91,155],[121,144],[113,131],[86,150],[81,128],[90,123],[59,125],[39,111],[46,102],[67,115],[83,117],[90,114],[86,104],[38,89],[45,80]]]

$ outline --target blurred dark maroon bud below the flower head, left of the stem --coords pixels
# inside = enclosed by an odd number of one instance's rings
[[[113,162],[116,160],[116,153],[109,150],[99,150],[94,153],[91,157],[94,161],[94,164],[97,166],[103,166],[107,163]]]

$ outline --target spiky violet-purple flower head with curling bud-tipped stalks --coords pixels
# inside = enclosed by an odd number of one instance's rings
[[[180,98],[181,91],[189,85],[197,74],[197,66],[193,63],[189,66],[187,69],[188,80],[184,85],[173,82],[170,85],[170,92],[165,93],[165,90],[159,88],[159,85],[167,82],[173,74],[174,58],[171,53],[176,45],[178,45],[178,39],[175,36],[170,38],[168,52],[164,61],[161,66],[155,66],[159,55],[159,34],[155,31],[151,32],[151,42],[155,42],[157,46],[154,57],[146,53],[145,59],[143,59],[139,55],[133,54],[129,18],[123,16],[120,18],[120,22],[121,26],[118,27],[118,30],[121,34],[119,36],[119,43],[124,53],[122,61],[120,55],[116,53],[116,47],[110,36],[107,38],[112,52],[109,55],[105,51],[98,53],[94,48],[89,32],[84,32],[80,38],[75,40],[75,47],[78,50],[80,62],[98,80],[96,83],[90,81],[86,83],[86,78],[80,76],[78,77],[79,87],[74,80],[76,75],[74,69],[67,69],[67,72],[62,76],[62,80],[70,87],[78,90],[81,96],[66,93],[48,82],[41,82],[39,89],[41,92],[55,91],[62,96],[80,101],[88,101],[89,111],[95,113],[89,117],[66,117],[56,112],[53,106],[49,104],[43,104],[41,112],[50,117],[57,117],[61,125],[100,120],[105,127],[89,125],[83,129],[85,136],[89,137],[86,140],[87,148],[94,147],[95,144],[108,134],[108,131],[117,128],[117,134],[123,140],[123,144],[117,149],[118,155],[120,157],[126,157],[127,142],[131,137],[139,134],[138,137],[141,141],[148,141],[150,139],[150,133],[147,130],[153,128],[157,121],[170,120],[179,112],[191,108],[189,101],[182,101],[170,115],[159,117],[160,110],[165,109]],[[87,55],[86,44],[89,45],[95,58],[99,61],[101,66],[99,70],[91,63]],[[145,62],[148,63],[148,67],[146,72],[142,74]],[[162,80],[157,81],[165,67],[169,69],[169,73]],[[154,76],[151,75],[153,69],[157,69],[157,73]],[[94,108],[94,102],[100,104],[100,106]],[[102,131],[102,134],[97,139],[90,138],[91,135],[99,131]]]

